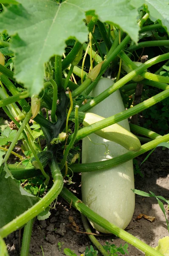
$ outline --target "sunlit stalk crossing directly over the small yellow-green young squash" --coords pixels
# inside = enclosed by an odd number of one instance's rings
[[[144,102],[141,102],[132,108],[129,108],[123,112],[115,114],[114,116],[107,117],[104,120],[101,120],[92,125],[84,127],[78,131],[76,141],[81,140],[82,138],[88,136],[89,134],[92,134],[93,132],[95,132],[97,130],[101,130],[102,128],[105,128],[109,125],[113,125],[116,122],[120,122],[121,120],[129,118],[130,116],[133,116],[136,113],[139,113],[139,112],[143,111],[144,109],[149,108],[158,102],[161,102],[163,99],[166,99],[168,96],[169,96],[169,89],[164,90],[163,92],[158,93],[157,95],[155,95],[149,99],[146,99]]]

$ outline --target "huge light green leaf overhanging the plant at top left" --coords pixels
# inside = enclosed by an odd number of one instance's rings
[[[53,55],[62,55],[65,41],[87,40],[85,12],[94,11],[101,21],[121,27],[136,42],[138,11],[129,0],[18,0],[0,16],[0,28],[13,35],[11,49],[15,53],[15,77],[38,94],[42,89],[44,63]]]

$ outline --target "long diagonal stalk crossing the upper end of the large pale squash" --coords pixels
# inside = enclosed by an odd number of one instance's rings
[[[117,49],[117,48],[116,48]],[[151,67],[152,65],[159,63],[161,61],[166,60],[169,58],[169,53],[165,53],[163,55],[159,55],[155,58],[150,59],[149,61],[146,61],[141,66],[137,67],[135,70],[131,71],[129,74],[118,80],[115,84],[112,84],[107,90],[104,90],[101,94],[96,96],[94,99],[92,99],[90,102],[82,106],[79,111],[87,112],[90,110],[90,108],[93,108],[97,104],[99,104],[101,101],[106,99],[110,94],[118,90],[120,87],[122,87],[124,84],[126,84],[128,81],[130,81],[133,77],[141,74],[146,68]],[[103,65],[102,65],[103,66]]]

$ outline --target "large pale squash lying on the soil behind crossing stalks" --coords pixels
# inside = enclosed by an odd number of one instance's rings
[[[111,79],[102,78],[90,95],[95,97],[112,84]],[[124,110],[120,92],[117,90],[90,112],[108,117]],[[130,131],[127,119],[119,124]],[[82,163],[104,161],[128,152],[123,146],[96,134],[90,134],[89,137],[91,141],[87,137],[82,141]],[[105,154],[103,144],[108,146],[109,154]],[[123,229],[130,223],[134,212],[135,195],[131,189],[134,189],[132,160],[108,170],[82,173],[83,202],[94,212]],[[98,224],[91,224],[96,230],[109,233]]]

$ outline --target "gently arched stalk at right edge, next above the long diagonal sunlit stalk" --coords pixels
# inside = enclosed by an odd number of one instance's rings
[[[155,46],[169,46],[169,40],[157,40],[157,41],[146,41],[138,43],[137,45],[132,45],[128,47],[126,50],[128,52],[133,52],[137,49],[144,47],[155,47]]]

